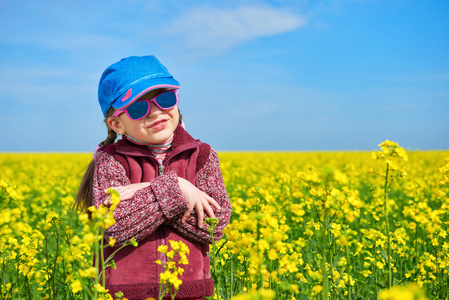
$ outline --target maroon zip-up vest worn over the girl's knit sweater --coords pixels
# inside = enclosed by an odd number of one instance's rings
[[[157,160],[145,146],[122,139],[105,146],[101,151],[115,157],[126,170],[131,183],[149,182],[161,173],[176,172],[195,183],[195,174],[200,170],[210,153],[210,146],[194,140],[182,127],[178,126],[172,150],[164,160],[164,168],[159,168]],[[169,245],[169,240],[182,241],[189,247],[189,264],[183,265],[184,274],[179,278],[182,284],[176,298],[197,298],[211,296],[214,283],[210,276],[209,245],[186,239],[171,226],[161,225],[142,241],[137,248],[127,246],[114,255],[116,269],[106,269],[106,288],[111,295],[123,292],[128,299],[158,298],[159,274],[163,266],[157,260],[166,261],[165,255],[157,252],[160,245]],[[107,258],[114,248],[105,248]]]

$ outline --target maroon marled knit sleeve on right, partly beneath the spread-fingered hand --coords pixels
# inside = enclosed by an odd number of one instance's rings
[[[211,149],[204,167],[195,176],[195,186],[215,199],[221,207],[221,210],[217,210],[212,206],[215,217],[219,219],[218,225],[214,229],[214,240],[218,241],[223,237],[223,229],[229,223],[232,207],[223,182],[220,161],[213,149]],[[209,216],[205,213],[206,217]],[[203,228],[198,227],[198,215],[195,210],[192,211],[184,224],[181,222],[181,218],[182,214],[169,220],[168,224],[188,238],[202,243],[212,243],[212,238],[207,230],[209,225],[204,222]]]

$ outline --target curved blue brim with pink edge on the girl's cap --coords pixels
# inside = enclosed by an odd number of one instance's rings
[[[112,107],[115,109],[123,109],[131,105],[149,91],[163,88],[179,89],[179,87],[179,82],[174,78],[151,78],[148,80],[141,80],[124,91],[112,103]]]

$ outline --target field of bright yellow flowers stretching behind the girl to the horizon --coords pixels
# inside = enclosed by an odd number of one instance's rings
[[[379,146],[219,153],[233,215],[214,299],[448,299],[449,151]],[[120,298],[72,210],[91,157],[0,154],[0,299]]]

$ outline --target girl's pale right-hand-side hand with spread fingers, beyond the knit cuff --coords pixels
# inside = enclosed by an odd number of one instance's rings
[[[212,197],[198,189],[186,179],[178,177],[178,181],[184,197],[189,202],[189,209],[182,216],[181,222],[184,223],[192,213],[193,209],[195,209],[198,214],[198,227],[203,228],[204,211],[206,211],[209,217],[215,218],[214,211],[210,205],[212,204],[216,209],[221,210],[220,205]]]

